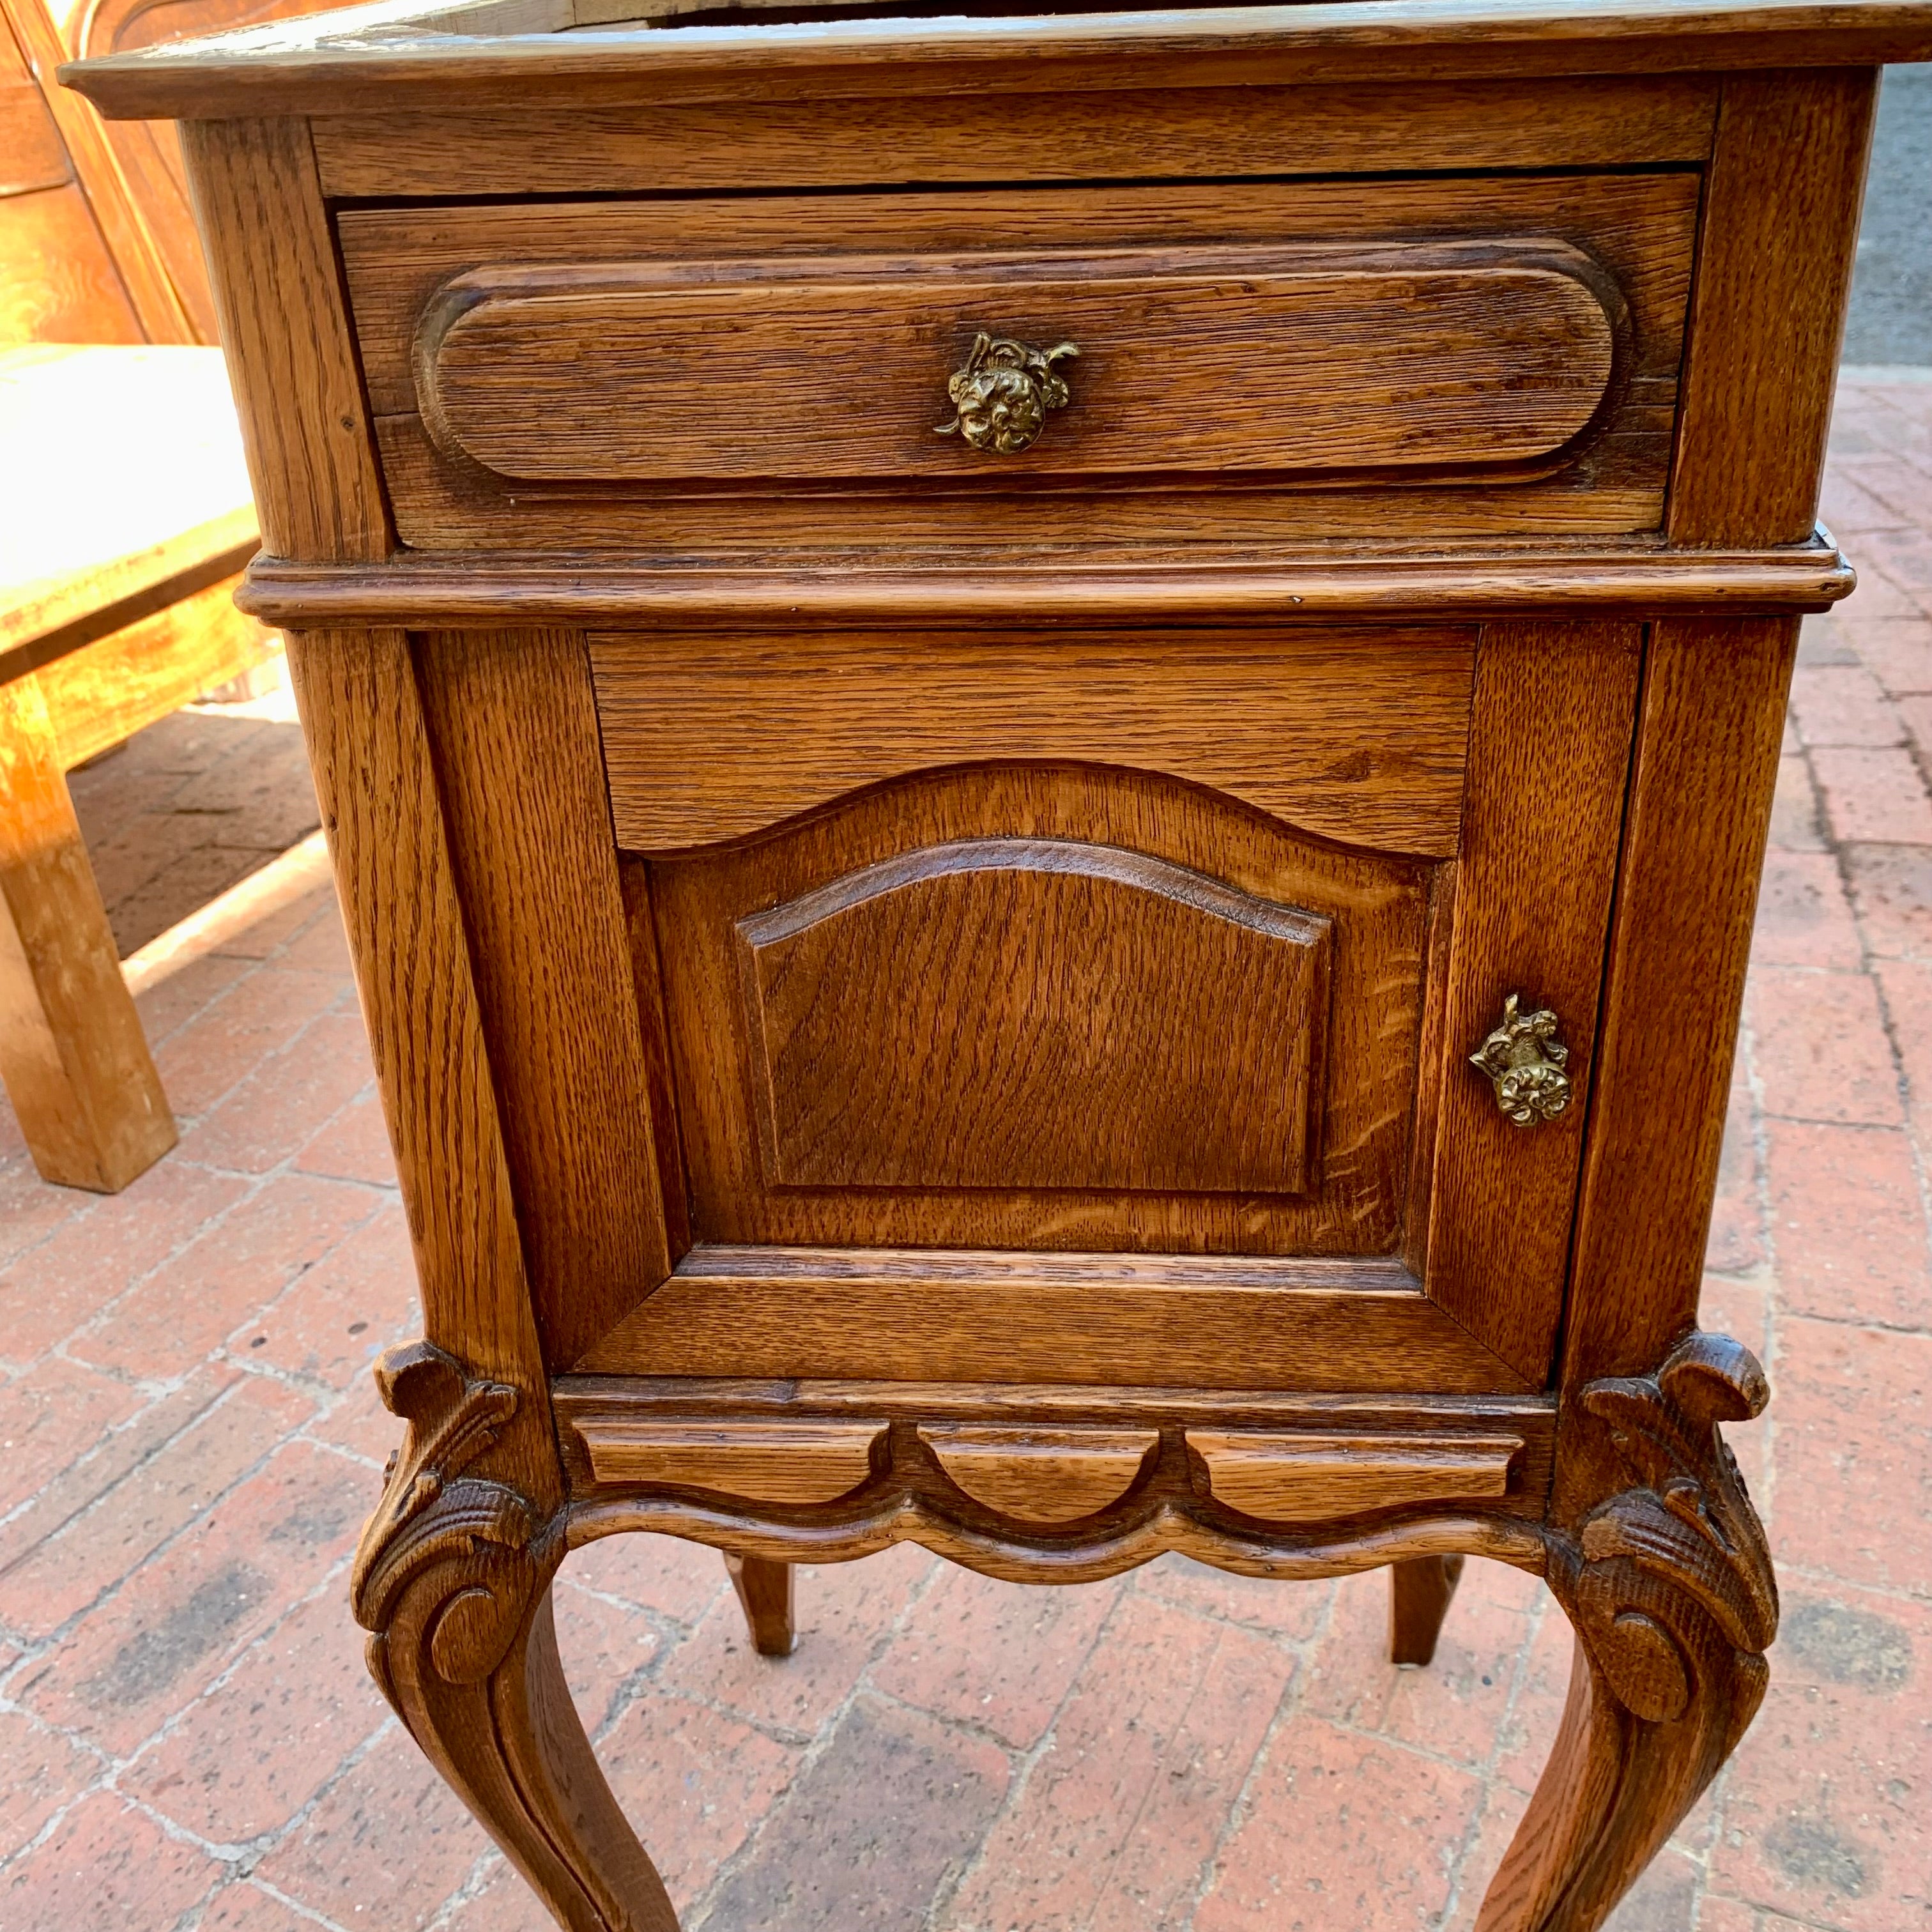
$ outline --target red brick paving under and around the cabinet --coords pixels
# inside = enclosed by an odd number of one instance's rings
[[[1862,587],[1806,628],[1706,1285],[1772,1370],[1733,1439],[1785,1631],[1617,1932],[1932,1928],[1932,384],[1841,396],[1826,516]],[[164,782],[240,734],[135,748],[122,806],[91,779],[129,902],[197,864],[156,800],[280,810],[280,748]],[[141,1009],[184,1140],[126,1194],[41,1186],[0,1105],[0,1926],[537,1932],[348,1615],[398,1434],[367,1370],[415,1314],[327,891]],[[1472,1565],[1393,1671],[1383,1592],[900,1549],[806,1571],[773,1663],[709,1551],[630,1538],[558,1627],[692,1932],[1468,1932],[1569,1631]]]

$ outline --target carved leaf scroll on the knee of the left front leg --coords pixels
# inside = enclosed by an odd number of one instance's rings
[[[481,1683],[504,1660],[541,1577],[539,1517],[508,1484],[464,1474],[510,1420],[516,1389],[427,1341],[383,1356],[377,1387],[410,1434],[363,1528],[350,1596],[371,1633],[369,1671],[402,1710],[388,1654],[402,1636],[452,1685]]]

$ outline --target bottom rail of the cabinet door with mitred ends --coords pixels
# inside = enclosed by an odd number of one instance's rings
[[[582,1362],[782,1376],[1519,1393],[1389,1262],[697,1246]]]

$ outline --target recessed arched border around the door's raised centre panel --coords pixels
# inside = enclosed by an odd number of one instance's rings
[[[759,1049],[738,922],[867,866],[983,838],[1140,854],[1331,923],[1327,1037],[1316,1041],[1325,1103],[1308,1194],[775,1184],[757,1144]],[[1414,860],[1318,844],[1213,792],[1148,773],[1005,763],[912,777],[750,844],[653,860],[694,1235],[786,1246],[1387,1254],[1401,1242],[1406,1202],[1428,873]],[[1020,943],[1020,933],[1001,941]],[[1022,978],[1007,997],[1024,985]],[[906,991],[916,999],[916,981]],[[1179,1012],[1165,1026],[1200,1037]],[[1151,1095],[1140,1105],[1153,1105]],[[1246,1126],[1213,1107],[1192,1119],[1202,1146],[1186,1159],[1198,1173],[1246,1171],[1248,1157],[1235,1153]],[[1179,1119],[1175,1130],[1186,1132]]]

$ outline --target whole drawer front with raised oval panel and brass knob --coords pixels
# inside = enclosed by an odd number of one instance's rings
[[[340,234],[406,541],[649,551],[1656,527],[1694,218],[1656,174]]]

